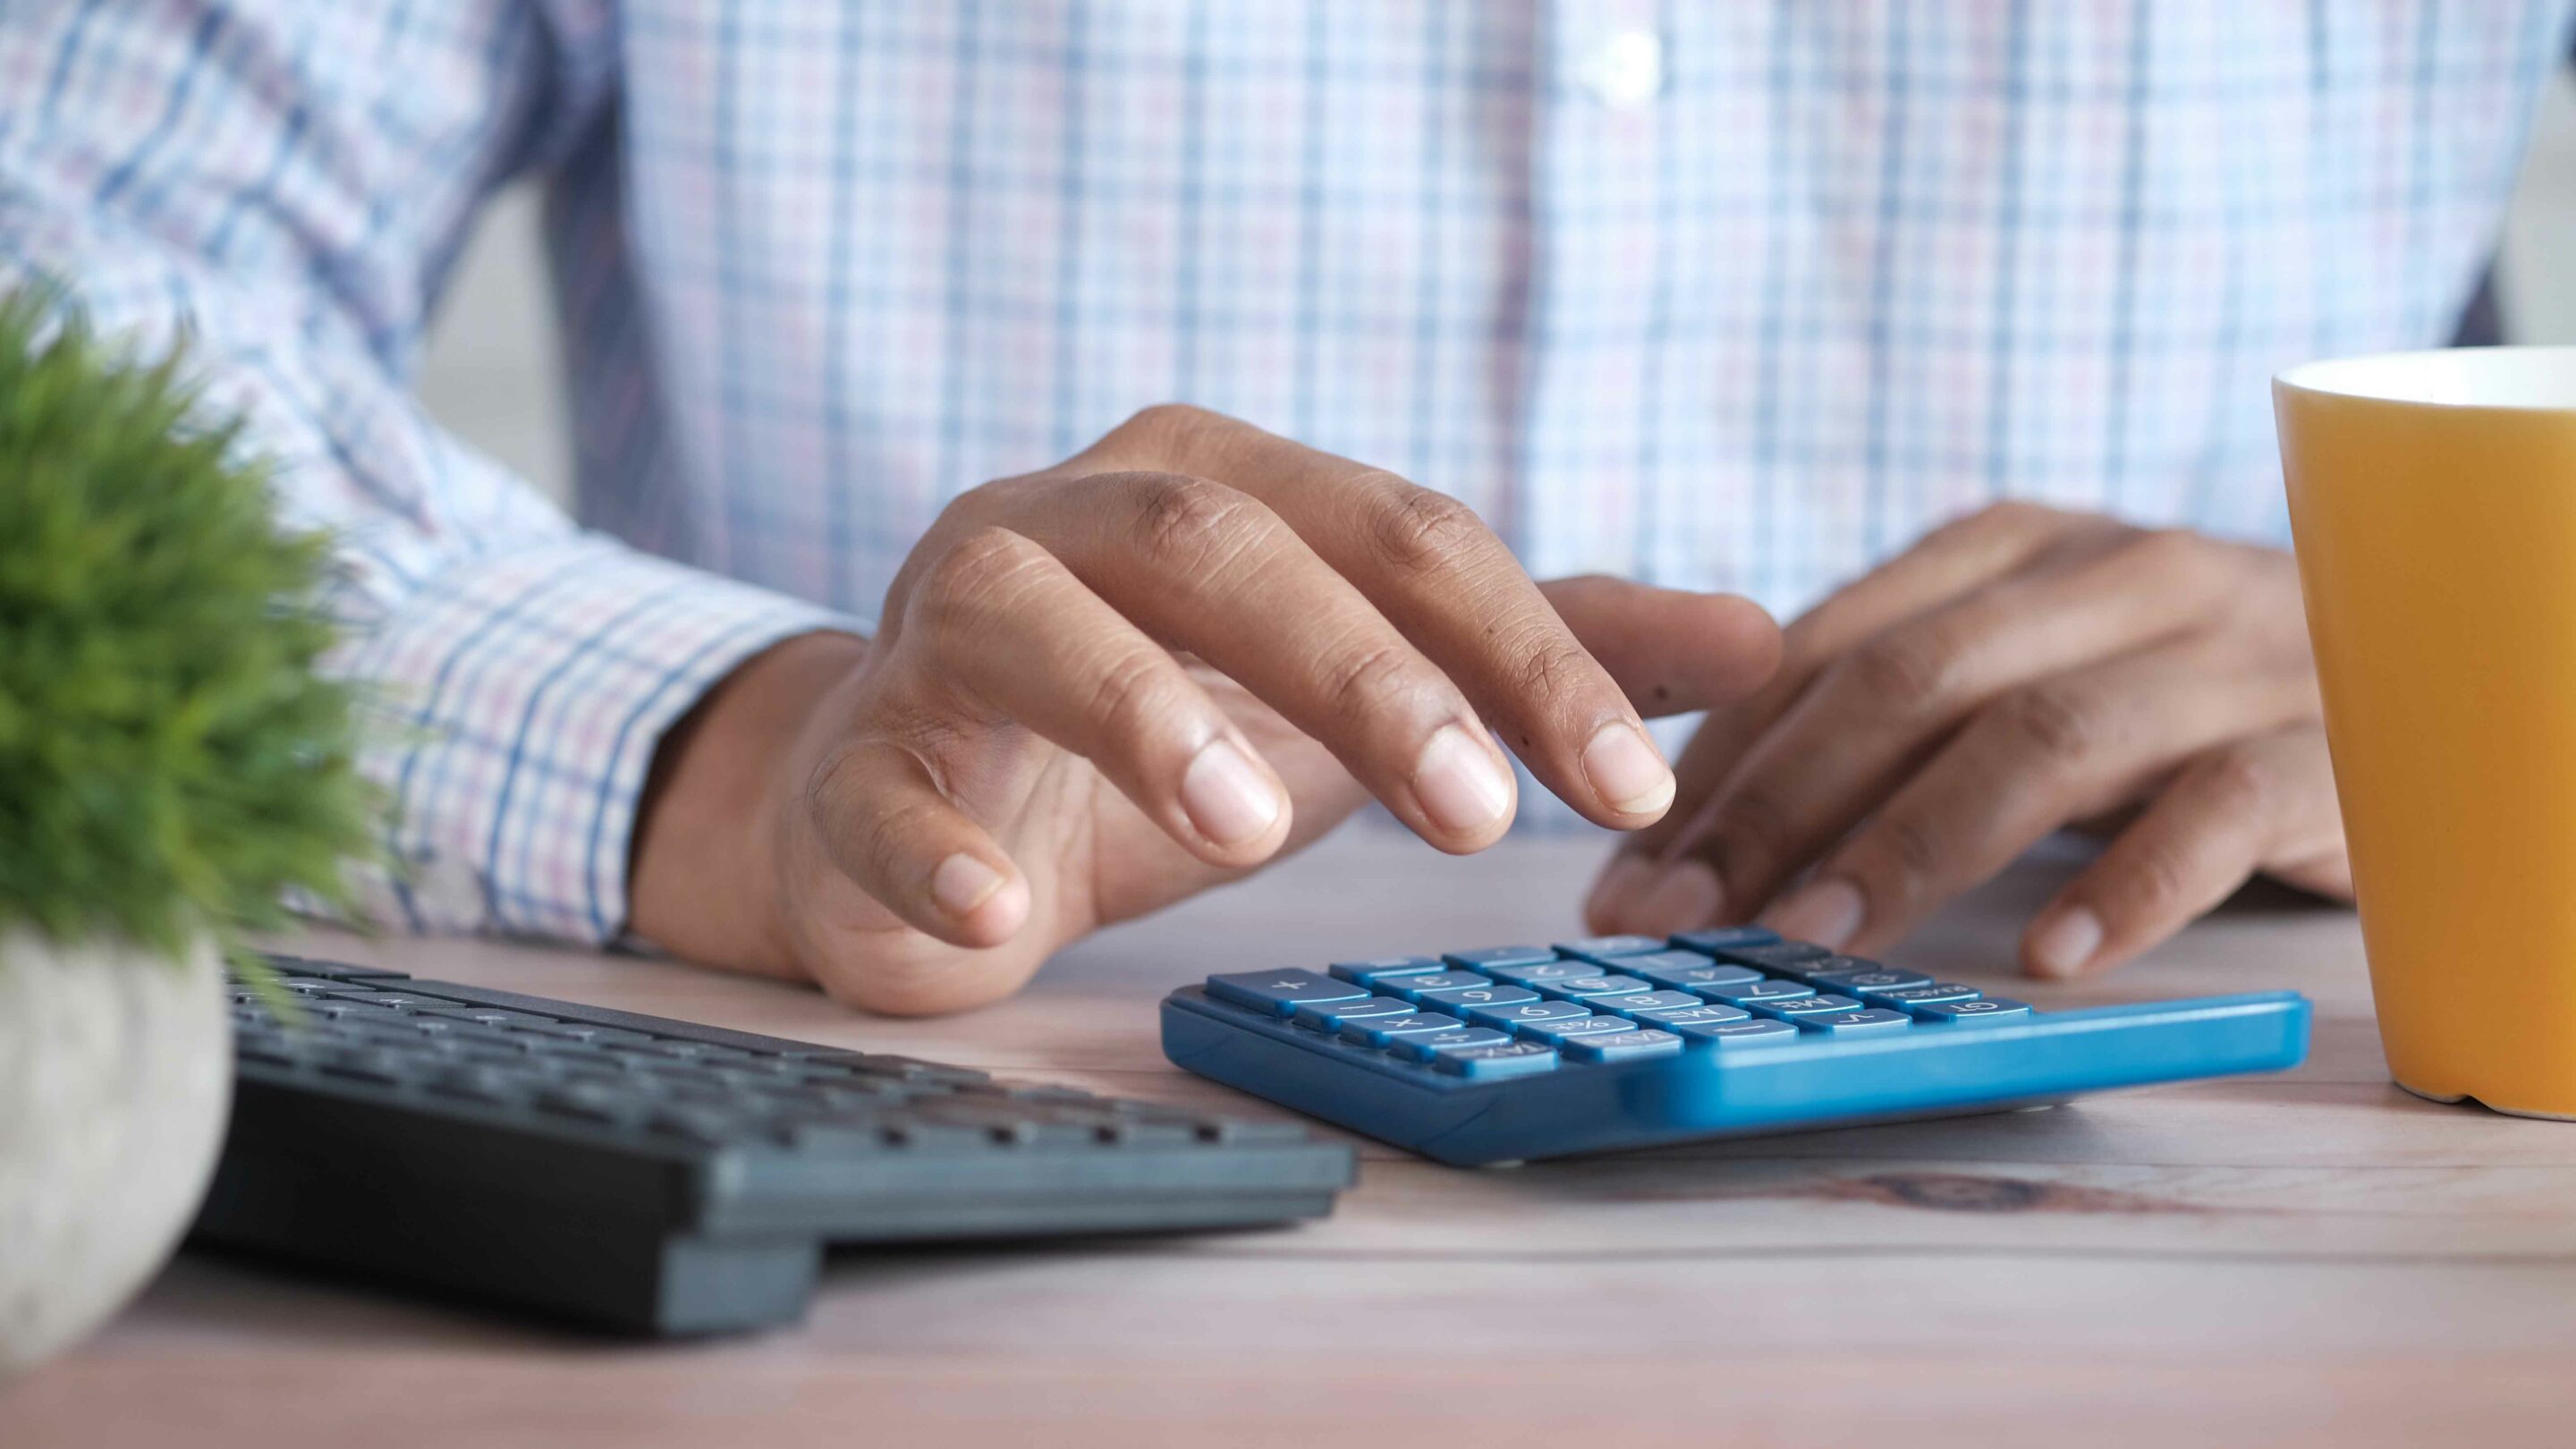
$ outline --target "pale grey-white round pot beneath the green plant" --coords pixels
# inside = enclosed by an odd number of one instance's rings
[[[0,1377],[108,1320],[196,1214],[232,1106],[214,946],[0,933]]]

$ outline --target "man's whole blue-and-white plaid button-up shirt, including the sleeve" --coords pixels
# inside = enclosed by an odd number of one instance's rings
[[[1146,402],[1783,611],[2007,495],[2280,539],[2267,374],[2450,333],[2571,18],[8,0],[0,286],[191,335],[343,539],[410,923],[605,938],[711,681]],[[407,392],[526,175],[580,521]]]

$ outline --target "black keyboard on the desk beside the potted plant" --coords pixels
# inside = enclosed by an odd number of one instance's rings
[[[827,1243],[1249,1227],[1350,1147],[1059,1085],[332,962],[234,982],[196,1240],[629,1333],[804,1312]]]

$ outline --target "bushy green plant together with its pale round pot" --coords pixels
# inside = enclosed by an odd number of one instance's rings
[[[170,1253],[229,1106],[222,962],[374,835],[322,541],[178,358],[49,312],[0,299],[0,1372]]]

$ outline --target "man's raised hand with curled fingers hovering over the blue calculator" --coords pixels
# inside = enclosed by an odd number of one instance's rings
[[[1589,820],[1649,825],[1674,779],[1631,701],[1705,709],[1777,660],[1741,598],[1535,585],[1445,495],[1154,407],[958,498],[876,639],[791,639],[708,696],[657,755],[634,928],[956,1011],[1370,794],[1443,851],[1494,843],[1494,732]]]

